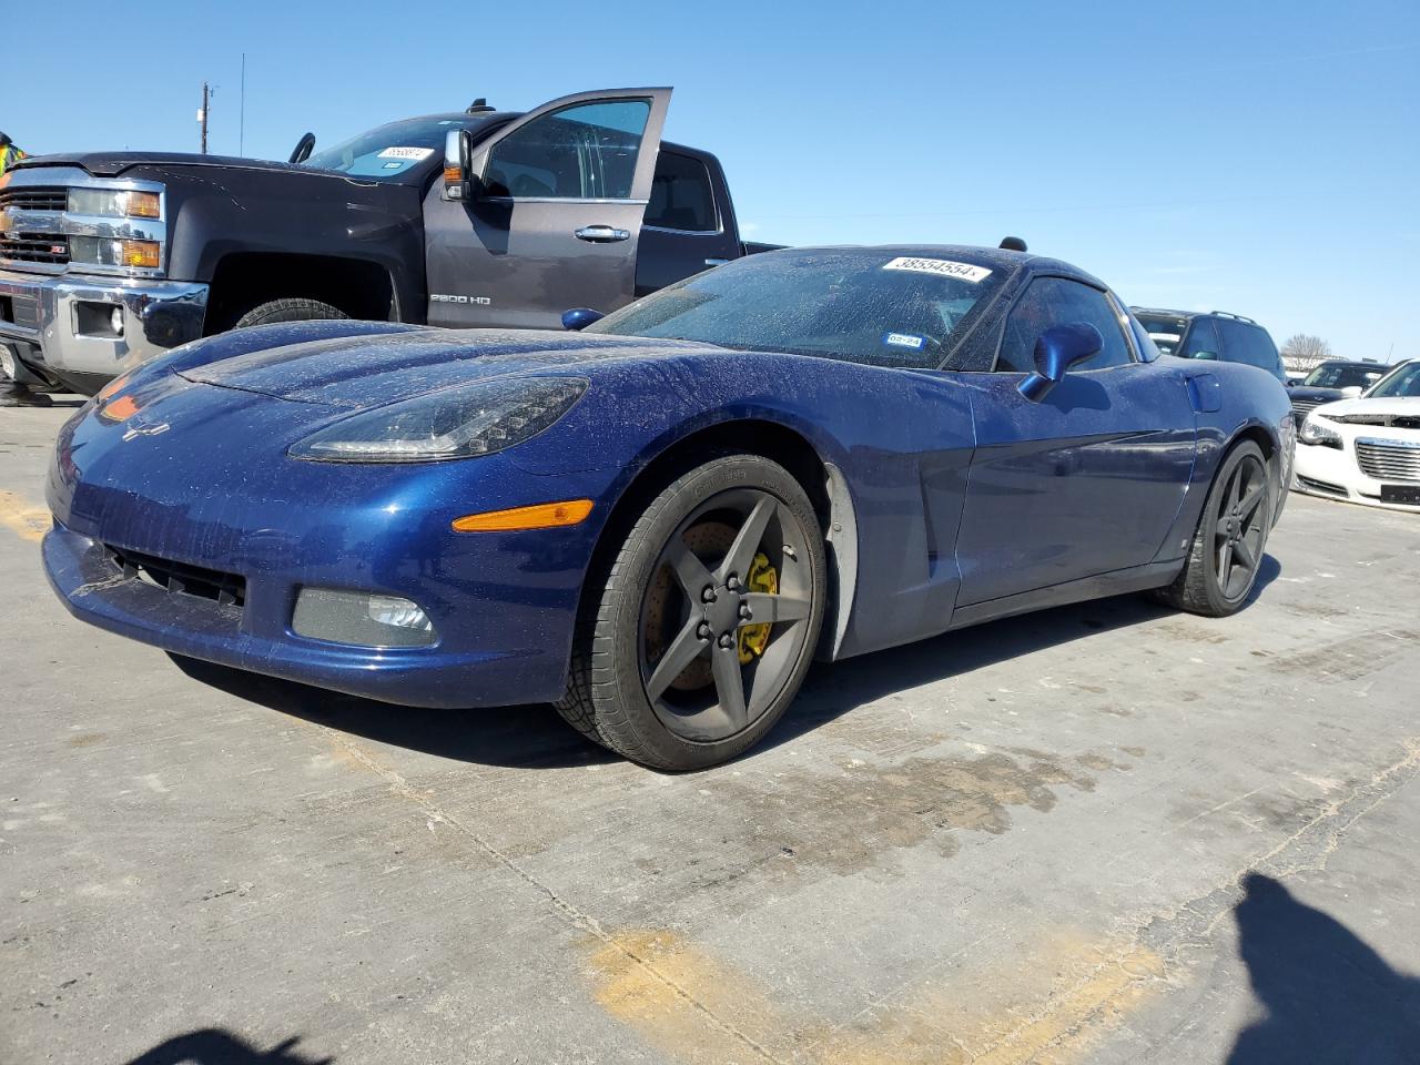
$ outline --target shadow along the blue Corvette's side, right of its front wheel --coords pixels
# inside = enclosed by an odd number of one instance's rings
[[[1281,572],[1282,567],[1277,558],[1264,555],[1257,584],[1242,609],[1257,602],[1258,595]],[[863,703],[897,692],[1173,613],[1177,613],[1173,608],[1143,595],[1116,595],[957,629],[917,643],[842,662],[818,663],[809,672],[799,697],[784,714],[784,720],[755,750],[768,750],[797,740]],[[1197,621],[1204,625],[1227,625],[1225,618]],[[1098,655],[1082,660],[1078,679],[1095,687],[1108,687],[1108,666],[1099,663]],[[1022,662],[1022,670],[1025,676],[1031,676],[1030,662]]]

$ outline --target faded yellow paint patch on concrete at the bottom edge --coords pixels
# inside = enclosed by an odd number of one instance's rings
[[[951,984],[929,980],[829,1021],[674,932],[619,933],[592,946],[598,1004],[687,1065],[1062,1065],[1085,1058],[1166,984],[1163,960],[1136,941],[1062,932],[1031,957],[1008,951],[995,971],[973,974],[968,983],[985,994],[971,1001],[953,971]]]

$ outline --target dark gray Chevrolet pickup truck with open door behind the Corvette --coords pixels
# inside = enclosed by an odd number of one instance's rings
[[[288,163],[28,159],[0,179],[0,355],[95,392],[234,327],[378,318],[557,328],[748,251],[709,152],[662,143],[669,88],[373,129]]]

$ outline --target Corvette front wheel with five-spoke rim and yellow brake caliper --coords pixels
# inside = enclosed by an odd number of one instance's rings
[[[794,701],[826,562],[818,515],[778,463],[728,454],[677,477],[594,581],[558,703],[584,736],[656,770],[700,770],[753,747]]]

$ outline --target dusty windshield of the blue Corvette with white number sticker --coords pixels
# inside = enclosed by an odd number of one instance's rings
[[[772,251],[665,288],[588,332],[927,368],[1004,278],[946,253]]]

